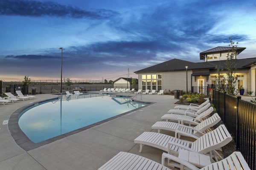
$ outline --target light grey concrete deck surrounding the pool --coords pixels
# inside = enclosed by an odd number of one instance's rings
[[[157,132],[151,125],[174,108],[174,96],[142,95],[142,101],[156,103],[26,152],[15,143],[3,121],[31,102],[52,98],[56,96],[38,94],[36,99],[0,105],[1,170],[97,170],[120,151],[161,162],[163,151],[144,146],[139,153],[139,144],[134,144],[134,139],[144,131]],[[140,100],[140,95],[135,99]]]

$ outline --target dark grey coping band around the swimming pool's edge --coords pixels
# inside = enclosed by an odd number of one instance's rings
[[[104,94],[107,94],[107,93],[104,93]],[[111,94],[110,94],[111,95]],[[116,95],[116,94],[114,94]],[[116,96],[122,96],[122,95],[116,95]],[[56,97],[56,98],[53,98],[53,99],[46,99],[46,100],[42,100],[42,101],[39,101],[39,102],[35,102],[35,103],[32,103],[30,105],[26,105],[26,106],[23,106],[21,108],[18,108],[14,113],[12,113],[12,115],[10,116],[9,118],[9,122],[8,122],[8,129],[9,129],[9,132],[11,133],[12,135],[12,138],[15,140],[16,144],[18,146],[20,146],[23,150],[25,151],[29,151],[29,150],[32,150],[32,149],[35,149],[37,147],[41,147],[41,146],[44,146],[45,144],[49,144],[51,142],[54,142],[54,141],[57,141],[59,139],[63,139],[67,136],[70,136],[70,135],[73,135],[75,133],[79,133],[81,131],[84,131],[84,130],[87,130],[87,129],[90,129],[91,127],[94,127],[94,126],[97,126],[97,125],[100,125],[102,123],[105,123],[105,122],[108,122],[110,120],[113,120],[113,119],[116,119],[118,117],[121,117],[121,116],[124,116],[124,115],[127,115],[127,114],[130,114],[134,111],[137,111],[137,110],[140,110],[142,108],[145,108],[149,105],[152,105],[156,102],[143,102],[143,103],[146,103],[148,105],[145,105],[145,106],[142,106],[140,108],[137,108],[137,109],[134,109],[134,110],[131,110],[131,111],[128,111],[128,112],[125,112],[125,113],[121,113],[119,115],[116,115],[116,116],[113,116],[113,117],[110,117],[108,119],[105,119],[105,120],[102,120],[102,121],[99,121],[99,122],[96,122],[96,123],[93,123],[92,125],[88,125],[88,126],[85,126],[85,127],[81,127],[79,129],[76,129],[76,130],[73,130],[71,132],[68,132],[68,133],[64,133],[62,135],[59,135],[59,136],[55,136],[53,138],[50,138],[50,139],[47,139],[45,141],[42,141],[42,142],[38,142],[38,143],[34,143],[32,142],[26,135],[25,133],[23,133],[23,131],[20,129],[20,126],[18,124],[18,120],[19,120],[19,115],[20,113],[22,113],[23,111],[25,111],[26,109],[28,108],[31,108],[35,105],[38,105],[39,103],[43,103],[43,102],[47,102],[47,101],[52,101],[54,99],[58,99],[59,97]],[[142,102],[140,100],[136,100],[136,99],[132,99],[133,101],[135,102]]]

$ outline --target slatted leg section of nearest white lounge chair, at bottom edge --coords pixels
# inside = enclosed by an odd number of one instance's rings
[[[170,170],[150,159],[132,153],[119,152],[98,170]]]

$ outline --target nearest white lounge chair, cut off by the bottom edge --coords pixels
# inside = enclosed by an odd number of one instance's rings
[[[177,162],[180,170],[183,170],[184,167],[191,170],[250,170],[241,152],[233,152],[227,158],[209,164],[201,169],[195,167],[195,165],[184,159],[180,159],[168,153],[162,154],[162,164],[159,164],[143,156],[138,156],[133,153],[119,152],[98,170],[171,170],[164,166],[165,159]],[[173,164],[170,164],[170,166],[173,167]]]

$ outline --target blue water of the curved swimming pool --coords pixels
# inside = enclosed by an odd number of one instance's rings
[[[122,96],[61,96],[20,113],[20,129],[34,143],[59,136],[147,105]]]

